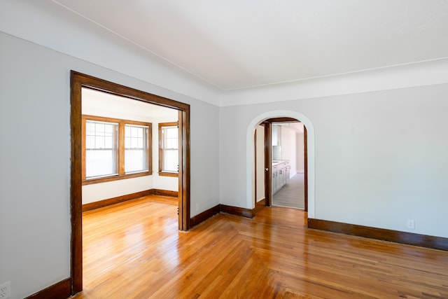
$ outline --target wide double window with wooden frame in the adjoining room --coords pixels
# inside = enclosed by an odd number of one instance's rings
[[[151,174],[151,123],[83,116],[83,183]]]

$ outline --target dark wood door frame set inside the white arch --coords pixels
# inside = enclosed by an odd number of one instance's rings
[[[262,124],[265,125],[265,199],[266,207],[272,206],[272,123],[297,123],[295,118],[269,118]],[[303,126],[304,146],[304,211],[308,211],[308,149],[307,128]]]

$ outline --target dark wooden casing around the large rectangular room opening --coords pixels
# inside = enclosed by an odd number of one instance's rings
[[[83,290],[81,88],[179,111],[179,230],[190,228],[190,105],[71,71],[71,293]]]

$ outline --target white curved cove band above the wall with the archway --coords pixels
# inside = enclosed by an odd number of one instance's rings
[[[353,95],[448,83],[448,58],[221,92],[220,106]]]

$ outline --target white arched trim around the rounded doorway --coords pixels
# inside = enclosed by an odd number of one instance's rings
[[[289,117],[300,120],[307,128],[307,162],[308,162],[308,217],[314,218],[315,216],[315,166],[314,166],[314,126],[311,120],[304,116],[302,113],[288,110],[276,110],[267,111],[262,113],[249,123],[246,132],[246,207],[254,207],[253,201],[253,188],[252,188],[252,176],[253,176],[253,161],[254,161],[254,148],[253,148],[253,134],[255,127],[262,123],[263,120],[268,118]]]

